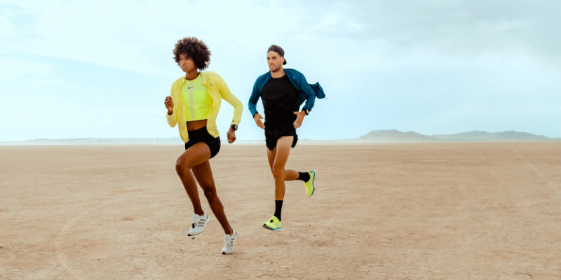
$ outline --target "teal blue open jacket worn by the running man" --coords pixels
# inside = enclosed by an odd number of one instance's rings
[[[300,98],[300,104],[306,101],[302,110],[308,109],[311,111],[313,108],[313,103],[316,102],[316,97],[324,98],[325,93],[323,93],[323,88],[321,87],[320,83],[315,83],[313,85],[309,84],[306,80],[306,77],[299,71],[295,69],[284,69],[286,76],[288,76],[288,80],[290,83],[296,87],[298,91],[298,96]],[[255,84],[253,85],[253,91],[251,92],[250,102],[248,103],[248,107],[251,112],[251,116],[255,116],[257,113],[257,101],[259,101],[259,97],[261,97],[261,91],[265,84],[271,79],[271,72],[264,73],[263,75],[259,76],[257,80],[255,80]]]

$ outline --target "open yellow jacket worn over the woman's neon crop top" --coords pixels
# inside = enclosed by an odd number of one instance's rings
[[[216,126],[216,117],[220,110],[222,99],[226,100],[231,106],[234,106],[234,118],[232,118],[231,125],[238,125],[241,122],[241,113],[243,105],[240,100],[230,92],[228,85],[217,73],[212,71],[205,71],[200,73],[203,76],[203,85],[208,89],[208,94],[212,98],[212,109],[208,113],[207,130],[213,137],[218,137],[218,129]],[[185,109],[185,102],[181,87],[185,83],[185,76],[178,78],[171,85],[171,98],[173,99],[173,114],[165,114],[168,118],[170,127],[175,127],[180,130],[181,139],[187,143],[189,141],[189,134],[187,133],[187,116]]]

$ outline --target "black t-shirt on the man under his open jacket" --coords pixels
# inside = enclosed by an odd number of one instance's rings
[[[300,107],[298,90],[290,83],[288,76],[271,78],[261,92],[263,109],[265,111],[265,125],[269,127],[283,127],[296,120]]]

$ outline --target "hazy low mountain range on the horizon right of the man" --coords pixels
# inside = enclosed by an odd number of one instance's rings
[[[458,134],[424,135],[417,132],[400,132],[399,130],[374,130],[358,139],[360,142],[549,142],[561,141],[527,132],[485,132],[472,131]]]

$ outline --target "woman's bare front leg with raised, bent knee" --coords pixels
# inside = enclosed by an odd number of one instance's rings
[[[198,198],[197,183],[191,174],[191,169],[203,162],[208,162],[210,159],[210,149],[207,144],[199,142],[187,149],[175,162],[175,171],[183,183],[187,195],[193,204],[195,214],[200,216],[204,215],[203,207],[201,207],[201,200]]]

